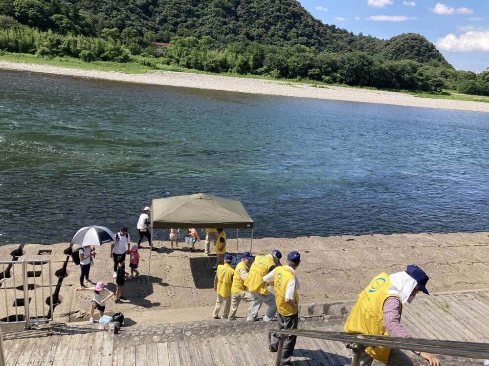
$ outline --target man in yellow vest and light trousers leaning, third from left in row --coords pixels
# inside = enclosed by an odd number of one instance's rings
[[[257,255],[253,264],[249,269],[244,285],[248,287],[248,291],[253,296],[251,310],[246,319],[248,322],[256,322],[258,320],[258,310],[263,303],[268,305],[267,313],[263,317],[264,322],[269,322],[275,318],[277,314],[277,305],[275,304],[275,296],[267,290],[267,283],[263,281],[263,277],[269,273],[275,264],[279,264],[282,253],[279,250],[272,250],[267,255]]]

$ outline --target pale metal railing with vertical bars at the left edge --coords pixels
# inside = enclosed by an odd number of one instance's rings
[[[31,264],[32,267],[27,268],[27,264]],[[36,264],[39,266],[39,270],[36,271]],[[1,270],[3,272],[3,284],[0,287],[0,296],[1,293],[4,294],[5,296],[5,312],[6,315],[5,317],[0,315],[1,318],[5,318],[6,321],[1,322],[0,325],[3,324],[22,324],[25,323],[26,328],[30,328],[31,322],[51,322],[53,320],[53,286],[52,286],[52,267],[51,267],[51,260],[50,259],[36,259],[36,260],[22,260],[22,261],[2,261],[0,262],[1,265]],[[44,284],[44,279],[47,277],[44,274],[43,266],[47,265],[48,266],[48,272],[49,272],[49,283],[48,285]],[[21,267],[21,268],[18,268]],[[21,284],[16,284],[16,281],[19,282],[19,279],[17,279],[16,276],[16,268],[17,271],[22,270],[22,290],[23,290],[23,304],[19,304],[19,300],[15,296],[15,292],[17,290],[17,286]],[[32,271],[30,269],[32,268]],[[7,274],[11,271],[11,275],[7,277]],[[40,273],[39,273],[40,272]],[[29,277],[29,275],[32,275]],[[32,279],[31,283],[29,283],[29,278]],[[36,278],[38,279],[39,283],[36,283]],[[32,289],[29,290],[29,285],[32,286]],[[49,313],[46,314],[45,307],[44,307],[44,301],[46,301],[46,298],[44,297],[44,288],[47,287],[47,291],[49,292]],[[40,302],[40,307],[42,308],[42,313],[41,311],[38,312],[38,290],[40,288],[41,291],[41,299],[39,299]],[[9,291],[12,290],[12,291]],[[32,298],[29,296],[29,291],[32,291]],[[9,293],[13,293],[13,297],[9,297]],[[9,306],[8,301],[12,301],[13,298],[13,305]],[[35,311],[32,312],[31,314],[31,304],[33,303]],[[13,311],[10,312],[9,314],[9,307],[14,308]],[[23,319],[22,319],[22,311],[19,311],[19,307],[23,307]],[[15,312],[15,318],[14,318],[14,312]],[[14,318],[15,320],[11,320],[11,317]]]

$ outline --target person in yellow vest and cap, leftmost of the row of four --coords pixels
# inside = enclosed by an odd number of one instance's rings
[[[234,269],[231,267],[233,256],[231,254],[224,255],[224,264],[217,266],[216,277],[214,278],[214,290],[217,292],[216,307],[214,307],[214,319],[221,319],[219,317],[219,311],[221,310],[222,303],[224,303],[224,310],[222,311],[222,318],[229,316],[229,308],[231,307],[231,286],[233,284]]]

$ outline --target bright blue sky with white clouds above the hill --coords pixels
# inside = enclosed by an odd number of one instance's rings
[[[419,33],[456,69],[489,65],[489,0],[299,0],[323,23],[388,39]]]

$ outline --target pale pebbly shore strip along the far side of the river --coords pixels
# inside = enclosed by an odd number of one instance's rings
[[[123,74],[115,71],[68,69],[49,65],[16,63],[8,61],[0,61],[0,69],[285,97],[329,99],[335,101],[489,112],[489,103],[484,102],[417,98],[403,93],[344,88],[339,86],[317,88],[299,83],[290,85],[280,81],[244,79],[219,75],[191,74],[172,71],[148,72],[144,74]]]

